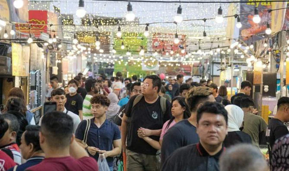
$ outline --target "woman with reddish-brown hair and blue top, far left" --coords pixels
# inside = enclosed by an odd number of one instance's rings
[[[21,99],[21,109],[24,111],[23,115],[26,116],[29,125],[35,125],[34,114],[26,107],[26,98],[24,92],[19,87],[11,88],[8,94],[9,97],[18,97]]]

